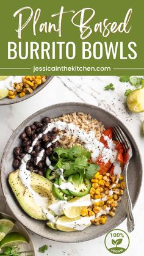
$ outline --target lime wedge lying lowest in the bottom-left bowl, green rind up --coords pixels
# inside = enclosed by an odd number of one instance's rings
[[[6,246],[13,247],[18,246],[19,244],[28,243],[26,238],[18,232],[12,232],[7,234],[4,239],[0,242],[0,248],[4,248]]]

